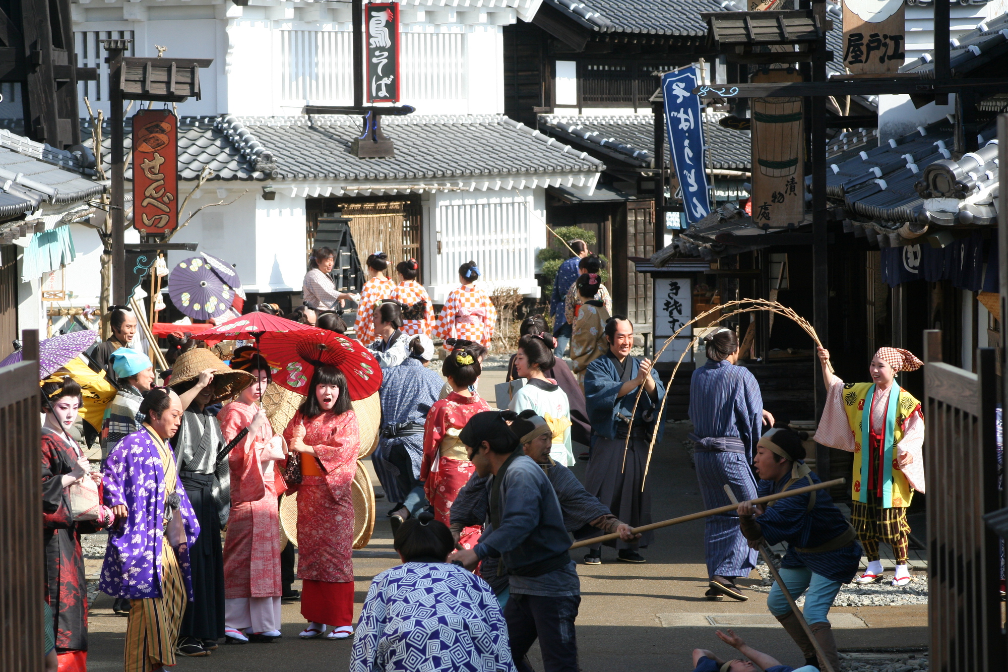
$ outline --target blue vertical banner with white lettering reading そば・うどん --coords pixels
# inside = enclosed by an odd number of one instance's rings
[[[698,84],[694,66],[661,76],[668,146],[675,177],[682,188],[682,207],[688,224],[711,214],[704,167],[704,110],[700,97],[692,93]]]

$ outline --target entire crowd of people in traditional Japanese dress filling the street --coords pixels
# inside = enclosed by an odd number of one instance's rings
[[[615,535],[605,544],[617,561],[646,561],[640,551],[653,533],[634,529],[652,522],[645,472],[664,429],[665,387],[652,362],[632,354],[632,322],[611,315],[599,257],[581,241],[571,246],[575,256],[553,288],[552,328],[540,315],[520,324],[507,375],[521,384],[506,409],[491,408],[479,391],[496,311],[476,284],[475,262],[459,268],[460,287],[435,318],[415,260],[395,265],[396,284],[385,275],[387,255],[369,255],[369,279],[351,296],[328,274],[332,250],[312,253],[306,306],[288,317],[343,334],[340,303],[357,301],[355,335],[382,372],[372,462],[403,564],[375,577],[356,629],[351,482],[365,437],[352,373],[316,361],[296,412],[276,426],[263,396],[288,362],[268,360],[258,340],[224,360],[183,338],[158,385],[150,359],[128,347],[135,316],[115,307],[112,337],[91,352],[117,390],[101,427],[90,429],[101,445],[100,473],[72,431],[81,385],[57,372],[40,390],[46,601],[58,670],[87,669],[81,536],[99,530],[108,531],[99,588],[128,614],[128,672],[157,672],[222,642],[282,637],[281,600],[296,593],[278,505],[293,493],[305,621],[298,637],[353,636],[352,670],[412,670],[423,660],[432,670],[527,672],[536,641],[547,672],[580,669],[571,540]],[[440,375],[428,367],[437,358],[433,338],[445,344]],[[880,579],[880,541],[896,556],[893,583],[909,580],[905,509],[924,488],[923,420],[894,374],[920,362],[882,348],[872,382],[847,384],[820,349],[828,400],[815,438],[855,455],[852,526],[827,490],[752,503],[821,479],[804,462],[807,435],[774,427],[756,379],[736,365],[735,331],[715,329],[705,341],[708,361],[694,373],[689,405],[698,479],[707,509],[738,502],[734,514],[707,520],[706,596],[747,599],[736,579],[756,566],[762,544],[786,543],[780,574],[792,595],[804,594],[812,638],[776,584],[768,608],[807,665],[825,657],[839,670],[828,614],[840,587]],[[588,460],[584,484],[571,470],[579,457]],[[590,543],[584,562],[600,564],[602,546]],[[862,549],[871,562],[858,575]],[[730,631],[719,636],[752,663],[785,672]],[[752,666],[701,649],[694,658],[701,671]]]

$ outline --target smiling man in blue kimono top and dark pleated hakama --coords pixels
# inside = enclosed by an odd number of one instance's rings
[[[641,491],[641,484],[655,423],[658,423],[656,443],[661,441],[664,430],[658,418],[658,407],[665,387],[649,360],[630,356],[633,347],[630,320],[622,315],[613,316],[606,323],[605,334],[609,351],[589,364],[585,372],[585,399],[593,434],[585,488],[599,497],[613,516],[637,528],[651,523],[651,491],[649,487]],[[634,414],[634,402],[642,385],[644,394]],[[630,426],[631,416],[633,427]],[[646,548],[653,536],[645,532],[640,539],[619,539],[606,544],[619,551],[618,557],[623,562],[644,562],[637,549]],[[589,547],[585,562],[602,562],[601,544]]]

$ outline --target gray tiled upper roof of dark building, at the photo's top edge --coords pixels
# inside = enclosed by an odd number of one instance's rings
[[[740,9],[726,0],[543,0],[596,32],[707,35],[701,12]],[[739,3],[744,5],[745,3]]]

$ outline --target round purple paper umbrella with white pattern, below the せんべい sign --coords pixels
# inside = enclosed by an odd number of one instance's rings
[[[179,261],[168,275],[171,303],[194,320],[210,320],[224,314],[235,300],[235,288],[241,287],[238,274],[218,268],[230,267],[220,259],[193,256]]]

